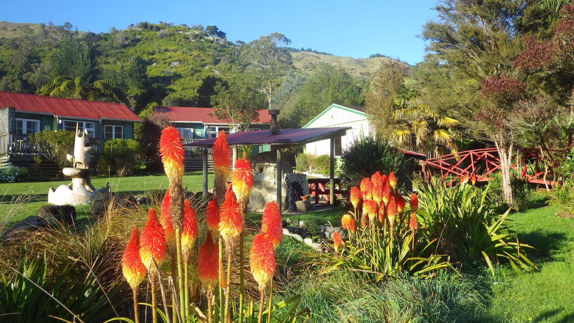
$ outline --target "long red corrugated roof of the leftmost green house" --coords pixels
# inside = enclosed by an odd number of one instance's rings
[[[50,113],[57,117],[142,121],[128,107],[119,103],[0,91],[0,108],[4,107],[13,107],[17,111]]]

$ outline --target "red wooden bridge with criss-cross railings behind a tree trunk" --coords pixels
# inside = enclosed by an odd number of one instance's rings
[[[543,155],[538,148],[519,148],[513,151],[511,170],[515,175],[529,183],[552,185],[554,168],[559,166],[556,160],[561,151],[548,150]],[[546,167],[548,165],[548,168]],[[476,182],[487,182],[501,168],[497,148],[483,148],[461,151],[425,160],[425,179],[440,176],[448,183],[459,180],[461,176],[476,177]]]

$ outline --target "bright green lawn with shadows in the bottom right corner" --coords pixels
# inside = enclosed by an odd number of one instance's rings
[[[492,282],[490,312],[507,322],[574,322],[574,219],[554,216],[558,207],[511,214],[521,243],[540,271],[516,274],[500,267]]]

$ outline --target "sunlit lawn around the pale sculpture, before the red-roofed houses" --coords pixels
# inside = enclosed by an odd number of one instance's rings
[[[213,174],[208,175],[208,185],[213,186]],[[188,191],[203,189],[203,175],[201,171],[185,172],[183,186]],[[0,223],[12,224],[28,216],[33,216],[40,206],[48,204],[48,190],[50,187],[67,185],[69,179],[50,182],[18,182],[0,184]],[[148,174],[129,177],[94,176],[92,184],[96,189],[111,184],[115,194],[131,193],[142,194],[150,190],[165,190],[168,179],[163,173]],[[76,207],[78,220],[83,220],[90,214],[89,206]]]

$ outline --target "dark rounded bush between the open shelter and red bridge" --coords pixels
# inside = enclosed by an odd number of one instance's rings
[[[361,179],[377,171],[381,174],[394,171],[402,185],[410,185],[412,164],[405,158],[405,154],[393,150],[389,144],[382,143],[373,137],[355,138],[343,151],[341,159],[339,177],[345,186],[344,189],[359,186]],[[404,186],[401,191],[404,191]]]

